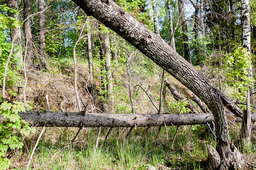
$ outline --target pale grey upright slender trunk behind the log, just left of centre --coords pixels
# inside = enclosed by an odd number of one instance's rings
[[[112,82],[112,71],[111,71],[111,52],[110,52],[110,42],[109,35],[105,36],[105,54],[106,54],[106,81],[108,83],[108,102],[110,104],[109,113],[113,111],[114,108],[114,96],[113,96],[113,82]]]

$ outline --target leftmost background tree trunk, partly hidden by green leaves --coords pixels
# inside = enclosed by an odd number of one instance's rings
[[[15,10],[19,11],[17,0],[7,0],[6,3],[9,8],[14,8]],[[19,20],[18,14],[9,12],[9,16]],[[18,66],[22,67],[23,57],[22,57],[22,50],[20,49],[22,46],[20,28],[11,28],[11,42],[13,42],[15,35],[16,35],[16,38],[15,38],[14,44],[16,46],[14,47],[14,53],[16,54],[16,58],[17,58],[16,63]]]

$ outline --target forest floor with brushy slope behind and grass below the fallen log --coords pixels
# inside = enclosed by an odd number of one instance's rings
[[[49,96],[51,111],[78,111],[74,91],[73,65],[70,59],[49,60],[48,71],[28,70],[27,100],[33,110],[44,111],[46,95]],[[136,68],[136,69],[135,69]],[[99,92],[100,73],[96,69],[95,82]],[[146,88],[155,103],[159,102],[159,91],[162,71],[151,72],[144,67],[133,66],[133,87],[137,84]],[[85,103],[92,105],[88,93],[88,63],[79,62],[79,94]],[[113,73],[115,113],[131,113],[128,76],[125,67],[118,67]],[[170,75],[167,78],[181,93],[182,84]],[[226,87],[226,89],[229,89]],[[150,100],[141,89],[134,89],[136,113],[156,113]],[[22,95],[18,96],[22,101]],[[94,113],[102,109],[99,99],[94,104]],[[170,92],[164,93],[164,112],[187,113],[184,102],[174,100]],[[61,108],[61,107],[62,108]],[[92,112],[89,107],[88,112]],[[230,125],[230,138],[236,145],[240,137],[240,124]],[[255,126],[255,123],[254,123]],[[206,125],[162,127],[156,139],[158,127],[135,128],[126,137],[129,128],[114,128],[107,139],[108,128],[102,128],[99,144],[96,147],[98,128],[84,128],[72,143],[79,128],[47,128],[32,158],[30,169],[208,169],[207,146],[215,146],[216,141]],[[26,169],[33,147],[42,128],[24,139],[22,150],[15,150],[11,155],[11,169]],[[174,138],[175,137],[175,138]],[[252,136],[252,145],[246,150],[238,149],[244,158],[255,163],[256,136]]]

